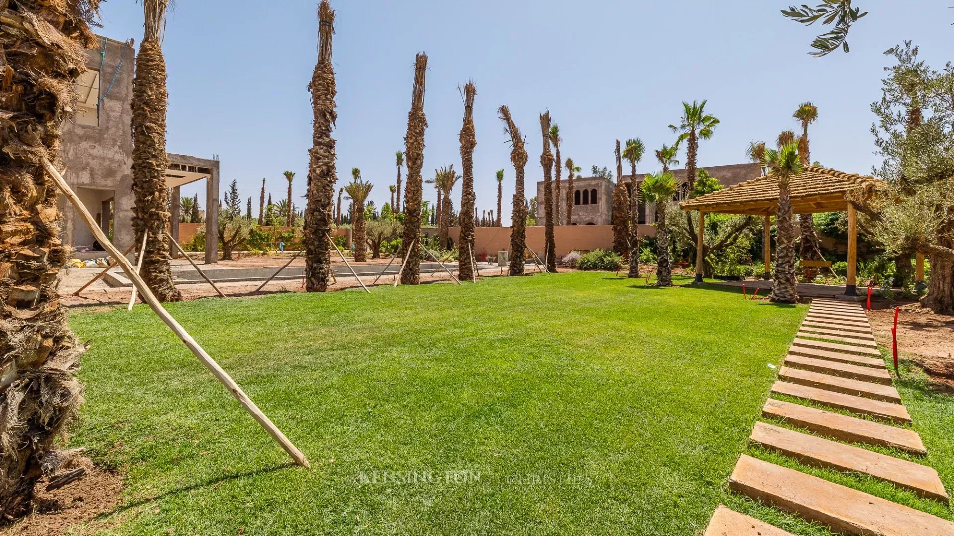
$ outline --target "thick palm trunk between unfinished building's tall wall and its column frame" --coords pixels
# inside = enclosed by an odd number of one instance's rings
[[[148,234],[146,256],[139,274],[159,301],[178,301],[182,294],[173,284],[166,225],[166,60],[162,37],[169,0],[143,0],[145,15],[142,43],[135,56],[133,78],[133,229],[141,240]]]

